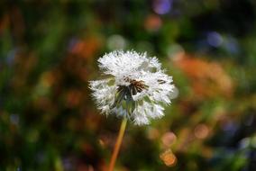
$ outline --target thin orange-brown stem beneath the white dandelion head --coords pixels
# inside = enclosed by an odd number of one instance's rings
[[[120,126],[120,130],[119,130],[119,133],[118,133],[118,137],[117,137],[115,145],[114,145],[114,151],[113,151],[113,154],[112,154],[112,157],[111,157],[111,160],[110,160],[110,165],[109,165],[108,171],[113,171],[114,170],[115,160],[116,160],[116,157],[118,156],[118,152],[119,152],[119,149],[120,149],[121,144],[122,144],[123,134],[124,134],[124,131],[125,131],[126,123],[127,123],[127,119],[123,118],[123,121],[122,121],[121,126]]]

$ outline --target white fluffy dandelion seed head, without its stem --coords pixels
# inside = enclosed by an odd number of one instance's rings
[[[121,115],[137,125],[164,115],[163,104],[170,103],[174,85],[157,58],[118,50],[98,62],[107,78],[90,81],[89,87],[102,113]]]

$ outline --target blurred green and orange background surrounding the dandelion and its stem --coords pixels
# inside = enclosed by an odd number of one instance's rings
[[[116,171],[256,170],[255,26],[254,0],[2,1],[0,170],[107,168],[121,121],[87,81],[114,49],[177,86],[162,119],[128,124]]]

